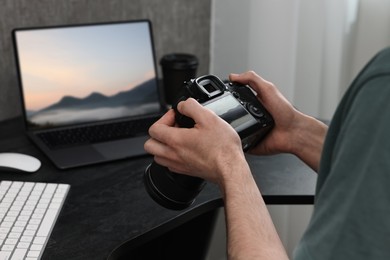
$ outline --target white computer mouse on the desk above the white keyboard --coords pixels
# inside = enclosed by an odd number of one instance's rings
[[[22,153],[0,153],[0,169],[36,172],[41,167],[37,158]]]

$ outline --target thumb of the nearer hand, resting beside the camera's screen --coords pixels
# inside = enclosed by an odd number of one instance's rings
[[[210,116],[214,115],[211,110],[205,108],[193,98],[180,102],[177,109],[181,114],[192,118],[198,124],[207,123]]]

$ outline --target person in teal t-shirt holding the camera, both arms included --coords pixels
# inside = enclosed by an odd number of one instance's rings
[[[312,220],[295,258],[390,259],[390,50],[355,79],[329,131],[256,73],[232,74],[230,80],[250,85],[275,120],[250,152],[292,153],[319,173]],[[218,184],[229,259],[287,259],[237,133],[194,99],[178,110],[194,119],[194,128],[175,127],[170,110],[150,128],[145,149],[174,172]]]

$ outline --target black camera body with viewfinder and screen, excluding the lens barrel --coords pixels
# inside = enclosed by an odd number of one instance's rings
[[[177,104],[190,97],[229,123],[240,136],[244,151],[256,145],[274,126],[272,116],[252,89],[238,83],[224,83],[214,75],[206,75],[184,83],[182,96],[173,106],[180,127],[194,126],[191,118],[177,111]]]

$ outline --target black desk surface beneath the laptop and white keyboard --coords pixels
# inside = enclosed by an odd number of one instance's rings
[[[33,174],[0,171],[1,180],[68,183],[71,189],[43,259],[106,259],[122,242],[137,248],[221,206],[217,187],[207,184],[193,206],[172,211],[146,193],[142,176],[149,156],[72,170],[57,170],[22,133],[20,118],[0,123],[0,152],[36,156]],[[311,204],[316,174],[291,155],[248,156],[266,203]]]

